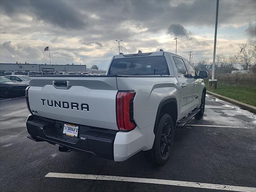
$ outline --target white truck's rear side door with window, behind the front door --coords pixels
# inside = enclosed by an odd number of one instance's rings
[[[187,78],[188,71],[182,60],[182,58],[173,56],[174,62],[176,64],[179,76],[178,82],[180,86],[180,116],[184,117],[187,115],[192,108],[191,100],[193,95],[193,81],[190,78]]]

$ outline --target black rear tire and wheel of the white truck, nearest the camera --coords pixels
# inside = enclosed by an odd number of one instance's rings
[[[171,152],[174,139],[174,127],[169,114],[160,116],[156,136],[151,150],[145,151],[146,158],[157,166],[164,165]]]

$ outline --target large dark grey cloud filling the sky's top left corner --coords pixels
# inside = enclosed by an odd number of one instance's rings
[[[86,26],[90,26],[86,13],[74,8],[71,1],[4,0],[1,1],[1,10],[9,16],[26,13],[36,20],[65,29],[84,29]]]

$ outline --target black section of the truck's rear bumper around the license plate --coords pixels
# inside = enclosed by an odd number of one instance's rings
[[[103,158],[114,159],[116,130],[79,125],[78,137],[63,133],[64,123],[35,115],[28,116],[27,130],[33,140],[58,144],[67,150],[83,151]]]

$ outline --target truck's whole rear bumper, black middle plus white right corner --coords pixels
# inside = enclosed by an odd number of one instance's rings
[[[95,156],[125,161],[141,150],[149,150],[154,143],[154,125],[130,132],[79,125],[78,137],[62,134],[64,123],[35,115],[28,116],[26,125],[32,140],[58,144],[67,150],[83,151]],[[60,124],[60,128],[56,126]]]

